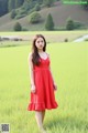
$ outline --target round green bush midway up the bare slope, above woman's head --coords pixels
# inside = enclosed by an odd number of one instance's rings
[[[30,22],[31,23],[38,23],[41,21],[41,14],[36,11],[30,14]]]

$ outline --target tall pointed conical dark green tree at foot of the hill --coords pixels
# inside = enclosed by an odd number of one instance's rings
[[[46,30],[54,30],[54,22],[53,22],[53,18],[52,18],[51,13],[46,18],[45,29]]]

